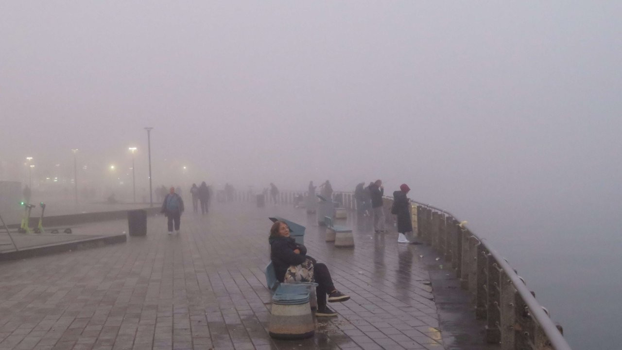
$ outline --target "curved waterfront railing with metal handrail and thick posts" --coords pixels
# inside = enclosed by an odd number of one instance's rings
[[[352,192],[335,192],[337,201],[356,210]],[[393,199],[384,197],[385,217],[393,221]],[[471,295],[477,319],[486,320],[485,341],[502,350],[571,350],[561,326],[549,318],[525,280],[490,242],[473,234],[447,210],[411,201],[413,231],[437,250]]]

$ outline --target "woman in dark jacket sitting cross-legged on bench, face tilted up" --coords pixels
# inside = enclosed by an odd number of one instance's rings
[[[289,236],[289,227],[282,221],[274,222],[270,229],[270,258],[274,265],[276,278],[283,283],[285,272],[291,265],[300,265],[307,259],[313,263],[313,277],[318,284],[317,312],[315,316],[337,316],[337,313],[326,306],[326,296],[329,303],[337,303],[350,299],[350,296],[341,293],[333,285],[328,268],[323,263],[315,262],[315,259],[307,255],[307,248],[297,244],[293,237]]]

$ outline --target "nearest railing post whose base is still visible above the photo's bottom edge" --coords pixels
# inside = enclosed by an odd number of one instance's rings
[[[486,343],[501,342],[501,280],[499,265],[492,255],[488,255],[488,304],[486,306]]]

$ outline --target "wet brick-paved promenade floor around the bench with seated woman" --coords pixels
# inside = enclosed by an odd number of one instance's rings
[[[339,316],[317,319],[304,341],[266,330],[274,215],[307,226],[309,255],[352,297],[332,303]],[[348,224],[356,247],[339,249],[304,209],[235,202],[184,214],[179,235],[150,217],[147,237],[125,244],[0,263],[0,350],[443,349],[430,248],[376,235],[366,218]],[[127,230],[124,220],[105,227]]]

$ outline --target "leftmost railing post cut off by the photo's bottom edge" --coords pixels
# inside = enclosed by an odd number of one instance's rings
[[[510,272],[512,273],[512,272]],[[499,283],[501,284],[500,304],[501,319],[499,330],[501,331],[501,350],[514,350],[514,326],[516,325],[516,288],[512,284],[505,270],[499,272]]]

